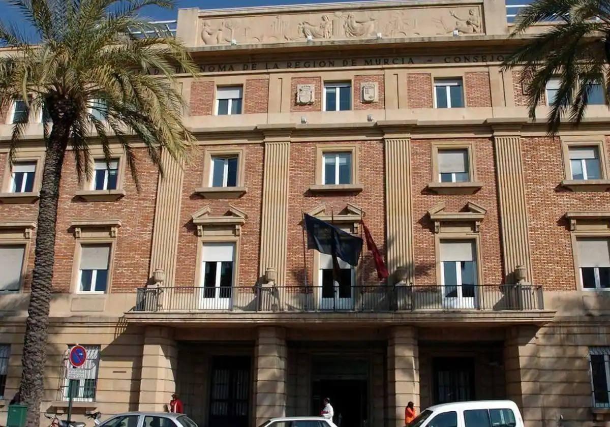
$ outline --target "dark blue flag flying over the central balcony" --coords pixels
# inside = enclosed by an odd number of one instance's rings
[[[326,221],[305,215],[307,249],[340,258],[350,265],[358,265],[362,239],[343,231]]]

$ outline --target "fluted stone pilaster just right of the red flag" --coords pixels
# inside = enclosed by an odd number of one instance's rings
[[[387,267],[390,274],[406,267],[413,282],[411,139],[386,138],[385,146]]]

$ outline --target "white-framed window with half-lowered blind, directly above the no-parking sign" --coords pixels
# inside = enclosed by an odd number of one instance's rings
[[[110,243],[81,245],[79,292],[104,293],[108,287]]]

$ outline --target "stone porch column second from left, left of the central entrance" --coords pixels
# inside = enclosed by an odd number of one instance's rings
[[[286,415],[287,353],[283,328],[258,329],[256,340],[256,424]]]

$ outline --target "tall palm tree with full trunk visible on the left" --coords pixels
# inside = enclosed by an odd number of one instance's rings
[[[196,68],[179,40],[137,16],[149,5],[171,8],[173,0],[8,1],[21,10],[40,40],[29,43],[12,26],[0,23],[0,45],[13,48],[0,57],[0,106],[17,100],[26,104],[26,114],[13,127],[10,158],[30,111],[45,109],[51,119],[43,132],[46,156],[20,386],[21,399],[29,406],[27,425],[35,427],[40,424],[57,200],[66,149],[74,151],[79,179],[92,175],[92,144],[101,145],[109,161],[110,142],[120,143],[136,184],[133,142],[144,143],[159,167],[162,149],[181,161],[193,137],[182,123],[184,100],[174,74],[193,74]],[[91,112],[93,102],[106,120]]]

